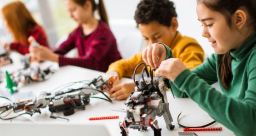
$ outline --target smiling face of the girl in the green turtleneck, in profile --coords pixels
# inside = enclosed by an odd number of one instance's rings
[[[202,36],[208,39],[217,54],[227,53],[240,46],[238,32],[230,28],[223,14],[211,11],[202,3],[196,6],[196,13],[203,24]]]

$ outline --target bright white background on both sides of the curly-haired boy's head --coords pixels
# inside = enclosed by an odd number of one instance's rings
[[[178,31],[185,36],[195,38],[206,54],[214,53],[207,39],[201,37],[201,23],[198,21],[195,11],[196,0],[173,0],[173,2],[178,13]],[[134,21],[134,13],[138,3],[139,0],[105,0],[110,27],[119,43],[127,34],[139,33]]]

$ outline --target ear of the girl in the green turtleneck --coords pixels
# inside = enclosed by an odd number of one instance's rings
[[[238,29],[242,29],[247,21],[247,14],[243,10],[238,9],[234,13],[233,18],[235,27]]]

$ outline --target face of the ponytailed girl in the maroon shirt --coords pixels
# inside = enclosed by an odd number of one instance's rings
[[[78,24],[85,23],[92,12],[90,12],[90,8],[88,8],[87,4],[85,4],[85,6],[81,6],[72,0],[66,0],[65,7],[70,14],[70,17]]]

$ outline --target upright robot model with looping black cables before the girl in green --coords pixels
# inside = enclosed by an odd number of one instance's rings
[[[144,63],[141,63],[144,64]],[[136,69],[141,65],[139,64]],[[144,64],[145,65],[145,64]],[[154,135],[161,135],[161,128],[157,123],[158,117],[164,116],[166,127],[168,130],[173,130],[173,118],[169,110],[169,103],[166,97],[166,87],[170,88],[168,79],[161,76],[154,76],[154,69],[150,73],[146,66],[142,70],[141,79],[134,82],[136,84],[135,92],[125,101],[126,117],[124,122],[120,122],[119,126],[123,136],[129,135],[128,128],[146,130],[151,127],[154,130]],[[136,69],[135,72],[136,73]],[[144,77],[143,72],[146,69],[147,77]],[[134,76],[135,77],[135,76]]]

